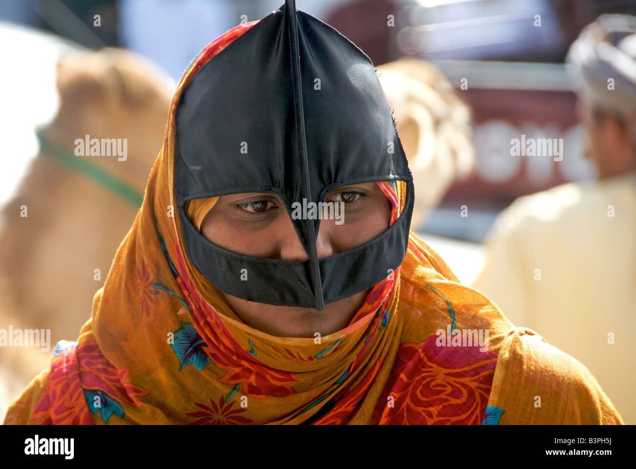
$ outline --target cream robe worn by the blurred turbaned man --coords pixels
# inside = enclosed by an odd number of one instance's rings
[[[472,286],[586,365],[636,424],[636,173],[518,198]]]

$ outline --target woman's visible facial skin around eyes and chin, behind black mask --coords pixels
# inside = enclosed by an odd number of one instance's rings
[[[318,257],[329,257],[370,241],[389,228],[391,202],[375,182],[338,187],[326,202],[342,203],[338,217],[320,222]],[[278,196],[242,193],[219,197],[205,215],[201,232],[212,243],[239,254],[289,261],[306,261],[303,248],[287,210]],[[362,305],[368,290],[314,308],[275,306],[223,294],[243,322],[279,337],[322,336],[343,329]]]

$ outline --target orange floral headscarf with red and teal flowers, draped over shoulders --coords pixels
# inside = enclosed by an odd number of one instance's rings
[[[412,233],[401,266],[371,289],[345,329],[319,340],[276,337],[233,313],[184,250],[175,111],[198,69],[254,24],[213,41],[184,73],[142,207],[92,317],[77,341],[57,344],[50,369],[5,422],[620,423],[583,365],[515,329]],[[380,187],[394,221],[406,184]],[[189,208],[198,227],[212,199]],[[451,333],[447,340],[440,330]],[[475,341],[487,331],[485,343],[467,342],[473,330]]]

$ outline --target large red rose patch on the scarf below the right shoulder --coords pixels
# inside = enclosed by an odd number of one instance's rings
[[[400,346],[375,407],[380,425],[480,425],[497,355],[478,344],[437,346],[436,339],[432,334],[424,343]]]

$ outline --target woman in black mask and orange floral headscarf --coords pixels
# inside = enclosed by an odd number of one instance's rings
[[[235,27],[181,79],[92,318],[6,423],[622,423],[412,207],[368,57],[293,2]]]

